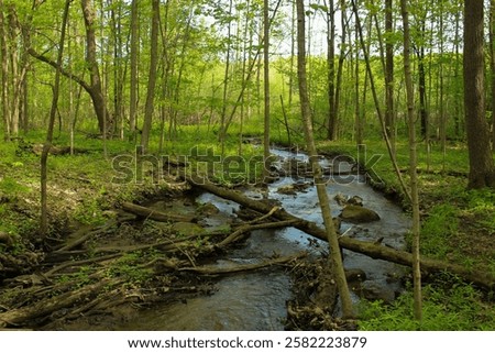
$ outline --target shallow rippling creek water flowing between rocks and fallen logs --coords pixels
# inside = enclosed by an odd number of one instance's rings
[[[288,158],[293,161],[307,161],[307,155],[292,153],[282,148],[273,150],[277,155],[279,165]],[[364,183],[364,177],[350,175],[350,165],[322,159],[324,167],[336,170],[339,176],[332,176],[328,183],[328,192],[331,199],[333,216],[338,216],[342,206],[338,205],[333,196],[359,196],[363,206],[376,211],[381,216],[380,221],[353,224],[342,222],[341,233],[365,241],[374,241],[383,238],[383,244],[395,249],[404,247],[404,235],[410,227],[409,218],[403,213],[399,207],[386,199],[380,192],[374,191]],[[352,183],[350,183],[352,179]],[[297,184],[308,186],[295,195],[280,194],[279,188]],[[270,185],[267,190],[246,188],[245,194],[252,198],[268,197],[282,202],[286,211],[294,216],[322,224],[321,212],[315,186],[310,179],[294,176],[282,177]],[[220,212],[209,218],[209,225],[219,225],[234,217],[234,210],[239,205],[223,200],[211,194],[201,194],[196,199],[197,203],[210,202]],[[321,225],[322,227],[322,225]],[[224,258],[217,262],[218,266],[230,264],[257,263],[267,256],[278,254],[293,255],[301,250],[315,252],[315,244],[326,250],[327,244],[315,241],[314,238],[294,228],[282,230],[261,230],[252,232],[243,246],[230,252]],[[402,268],[388,262],[372,260],[365,255],[344,251],[344,266],[346,269],[360,268],[365,272],[366,279],[362,283],[361,291],[369,297],[384,300],[393,300],[397,291],[402,290],[397,274]],[[168,304],[143,310],[140,320],[134,320],[123,330],[169,330],[169,331],[252,331],[252,330],[283,330],[283,319],[286,316],[286,301],[292,297],[290,278],[282,268],[270,268],[257,272],[232,274],[222,277],[216,283],[216,291],[209,296],[197,297],[187,302]],[[361,293],[362,294],[362,293]],[[354,300],[359,300],[359,294],[354,294]]]

